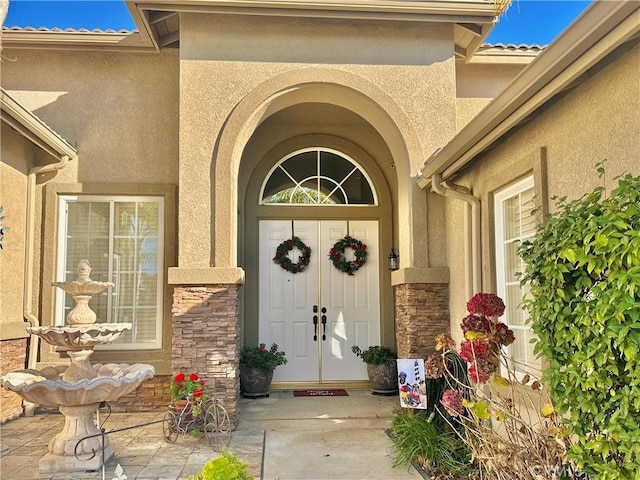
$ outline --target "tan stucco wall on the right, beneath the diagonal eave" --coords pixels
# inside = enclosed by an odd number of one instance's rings
[[[623,172],[640,174],[640,47],[618,55],[604,69],[555,102],[503,143],[480,156],[456,179],[482,202],[483,290],[495,291],[492,195],[533,174],[538,201],[553,209],[554,196],[578,198],[596,186],[610,191]],[[606,160],[606,178],[594,165]],[[447,199],[447,256],[451,268],[451,327],[458,333],[467,298],[459,279],[464,259],[461,202]]]

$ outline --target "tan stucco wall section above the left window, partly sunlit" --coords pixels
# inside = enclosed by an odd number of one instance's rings
[[[2,87],[74,145],[62,182],[176,183],[177,54],[3,50]]]

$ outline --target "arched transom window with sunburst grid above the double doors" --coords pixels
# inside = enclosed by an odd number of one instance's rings
[[[262,205],[377,205],[369,178],[355,161],[327,148],[287,155],[269,172]]]

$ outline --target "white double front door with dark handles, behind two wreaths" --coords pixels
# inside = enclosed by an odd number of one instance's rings
[[[329,259],[347,234],[367,245],[367,261],[353,276]],[[309,265],[296,274],[273,262],[278,245],[293,235],[311,247]],[[267,347],[277,343],[288,360],[274,381],[366,380],[366,366],[351,346],[380,343],[378,222],[263,220],[259,253],[259,338]],[[298,254],[289,253],[292,262]],[[345,254],[350,258],[353,251]]]

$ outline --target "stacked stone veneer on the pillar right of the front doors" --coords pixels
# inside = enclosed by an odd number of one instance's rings
[[[399,358],[426,358],[436,335],[450,332],[449,285],[406,283],[395,287]]]

